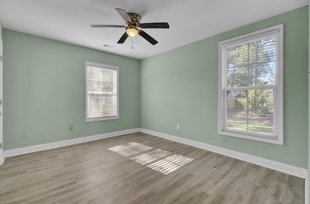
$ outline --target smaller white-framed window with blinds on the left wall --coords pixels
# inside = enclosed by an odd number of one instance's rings
[[[85,121],[119,118],[119,67],[85,62]]]

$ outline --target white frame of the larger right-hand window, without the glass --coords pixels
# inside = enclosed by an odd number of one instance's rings
[[[276,109],[276,114],[274,117],[277,117],[278,121],[278,129],[277,129],[277,139],[266,138],[262,136],[253,136],[246,134],[246,131],[243,132],[236,132],[230,131],[228,128],[224,128],[224,106],[226,107],[227,103],[227,96],[226,91],[228,91],[226,81],[226,66],[224,64],[224,48],[238,45],[241,43],[246,43],[250,40],[255,40],[258,38],[264,38],[269,36],[270,34],[277,33],[277,50],[276,50],[276,84],[274,86],[270,86],[270,89],[276,90],[276,97],[274,97],[274,108]],[[218,44],[218,54],[219,54],[219,72],[218,72],[218,134],[232,136],[237,138],[243,138],[248,140],[254,141],[263,141],[268,143],[274,143],[283,145],[283,24],[273,26],[267,29],[263,29],[260,31],[251,32],[242,36],[234,37],[232,39],[224,40],[219,42]],[[243,89],[244,87],[233,87],[234,89]],[[252,89],[247,87],[248,89]],[[265,87],[264,87],[265,88]],[[254,89],[259,89],[256,86]]]

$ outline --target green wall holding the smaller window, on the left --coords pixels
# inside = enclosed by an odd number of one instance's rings
[[[140,126],[139,60],[7,29],[3,42],[4,150]],[[120,119],[85,123],[85,61],[120,67]]]

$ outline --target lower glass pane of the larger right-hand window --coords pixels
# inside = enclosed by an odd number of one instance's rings
[[[273,89],[228,91],[225,128],[274,134]]]

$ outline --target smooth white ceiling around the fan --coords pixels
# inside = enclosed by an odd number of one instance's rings
[[[0,19],[6,29],[143,59],[306,5],[308,0],[0,0]],[[140,35],[117,44],[124,28],[90,26],[125,26],[114,8],[139,14],[141,23],[168,22],[170,29],[143,29],[155,46]]]

